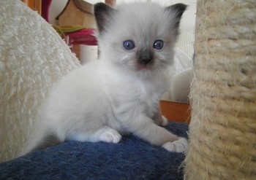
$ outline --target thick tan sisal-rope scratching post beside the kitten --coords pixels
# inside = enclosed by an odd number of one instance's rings
[[[256,1],[197,1],[185,179],[256,179]]]

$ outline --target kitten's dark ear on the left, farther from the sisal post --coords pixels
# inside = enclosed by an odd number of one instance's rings
[[[94,17],[97,22],[99,34],[105,30],[106,24],[114,12],[116,12],[116,10],[112,7],[109,7],[107,4],[97,3],[94,5]]]

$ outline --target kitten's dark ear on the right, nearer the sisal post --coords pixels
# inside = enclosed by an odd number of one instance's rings
[[[181,16],[183,15],[183,12],[187,9],[187,5],[185,5],[185,4],[174,4],[170,7],[167,7],[166,9],[172,15],[174,15],[174,17],[176,18],[175,27],[178,28],[179,22],[181,21]]]

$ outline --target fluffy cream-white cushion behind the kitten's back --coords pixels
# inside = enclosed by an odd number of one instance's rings
[[[56,81],[80,63],[59,34],[20,0],[0,1],[0,162],[24,149]]]

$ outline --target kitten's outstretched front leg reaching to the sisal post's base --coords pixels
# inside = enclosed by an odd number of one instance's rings
[[[178,137],[165,128],[159,127],[149,117],[140,115],[124,123],[132,133],[151,144],[162,146],[170,152],[184,152],[187,149],[185,138]]]

